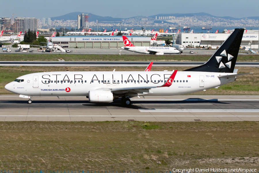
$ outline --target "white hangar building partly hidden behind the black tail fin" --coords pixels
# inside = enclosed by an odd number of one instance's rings
[[[177,36],[176,44],[187,46],[200,46],[203,48],[212,47],[216,49],[230,35],[230,33],[180,33]],[[244,33],[241,47],[258,49],[258,31]]]

